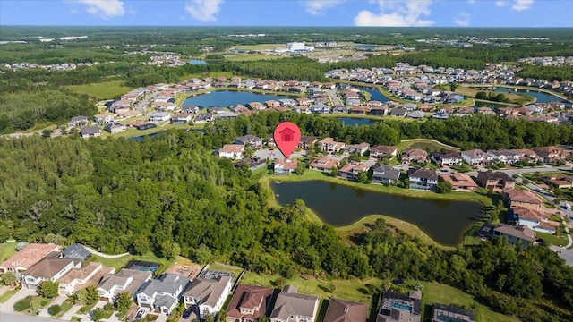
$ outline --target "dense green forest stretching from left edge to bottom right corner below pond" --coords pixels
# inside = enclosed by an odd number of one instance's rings
[[[0,241],[81,242],[165,258],[180,253],[285,276],[435,280],[524,321],[573,318],[573,268],[541,246],[517,250],[497,241],[441,250],[382,221],[345,240],[333,227],[309,222],[301,200],[269,208],[258,177],[212,148],[226,129],[269,131],[284,115],[217,123],[209,130],[219,133],[213,138],[167,131],[142,142],[0,140]],[[329,131],[321,128],[329,119],[291,120],[307,133]]]

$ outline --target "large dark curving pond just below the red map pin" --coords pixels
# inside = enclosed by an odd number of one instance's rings
[[[271,182],[270,188],[280,196],[280,205],[303,199],[329,225],[351,225],[369,215],[392,216],[416,225],[435,242],[448,246],[462,242],[467,228],[483,213],[477,202],[417,199],[331,182]]]

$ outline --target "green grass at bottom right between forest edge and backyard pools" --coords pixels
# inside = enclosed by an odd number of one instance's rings
[[[432,314],[433,303],[456,305],[465,309],[471,309],[475,314],[475,321],[479,322],[513,322],[517,318],[494,312],[488,307],[475,301],[474,298],[446,284],[422,281],[406,281],[406,284],[420,283],[422,289],[422,311]],[[430,306],[430,308],[428,308]],[[424,317],[429,318],[429,317]]]

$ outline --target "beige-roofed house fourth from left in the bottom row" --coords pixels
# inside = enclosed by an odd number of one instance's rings
[[[99,298],[113,302],[120,292],[135,295],[152,274],[150,271],[122,268],[116,274],[105,275],[98,283]]]

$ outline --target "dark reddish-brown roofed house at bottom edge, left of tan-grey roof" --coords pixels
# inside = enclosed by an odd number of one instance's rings
[[[257,322],[269,310],[274,288],[239,284],[227,306],[227,322]]]

